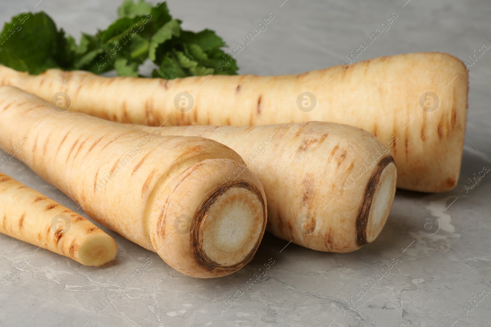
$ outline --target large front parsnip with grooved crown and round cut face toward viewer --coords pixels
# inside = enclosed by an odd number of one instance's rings
[[[193,277],[231,274],[252,259],[266,227],[260,181],[228,147],[158,136],[81,113],[60,113],[0,87],[0,148],[27,135],[16,157],[94,220]],[[234,183],[229,173],[241,170]]]

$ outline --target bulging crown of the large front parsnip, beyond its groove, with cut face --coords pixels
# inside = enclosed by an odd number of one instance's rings
[[[226,276],[254,256],[266,229],[266,195],[241,163],[205,159],[156,193],[150,216],[155,251],[191,277]],[[164,204],[164,206],[162,205]]]

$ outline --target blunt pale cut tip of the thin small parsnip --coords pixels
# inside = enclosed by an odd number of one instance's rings
[[[80,244],[76,260],[85,266],[102,266],[114,260],[118,247],[108,234],[101,230]]]

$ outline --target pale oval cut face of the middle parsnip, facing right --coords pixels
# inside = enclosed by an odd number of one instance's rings
[[[370,197],[372,199],[367,214],[366,229],[362,235],[358,235],[359,241],[372,243],[379,236],[394,201],[396,183],[397,169],[394,159],[391,156],[386,157],[380,161],[378,169],[367,185],[365,200],[370,200]]]

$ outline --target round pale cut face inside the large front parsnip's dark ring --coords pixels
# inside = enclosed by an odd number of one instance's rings
[[[203,208],[200,239],[206,264],[234,267],[249,260],[257,249],[264,224],[262,196],[250,185],[238,183]]]

